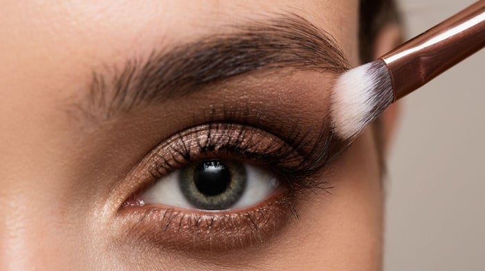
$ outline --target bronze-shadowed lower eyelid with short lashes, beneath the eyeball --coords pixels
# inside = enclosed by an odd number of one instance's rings
[[[200,252],[228,250],[263,243],[288,219],[298,219],[288,194],[265,200],[255,209],[245,212],[186,213],[157,205],[125,207],[118,217],[127,223],[129,231],[120,236],[123,241],[152,243],[157,247]]]

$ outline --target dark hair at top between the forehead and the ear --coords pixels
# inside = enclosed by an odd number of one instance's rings
[[[394,0],[360,0],[359,55],[360,60],[373,61],[373,48],[378,33],[389,24],[400,24]]]

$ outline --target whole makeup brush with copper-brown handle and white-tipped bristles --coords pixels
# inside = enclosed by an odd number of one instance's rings
[[[485,46],[485,0],[383,55],[343,73],[331,95],[336,135],[353,140],[387,106]],[[484,73],[485,75],[485,73]]]

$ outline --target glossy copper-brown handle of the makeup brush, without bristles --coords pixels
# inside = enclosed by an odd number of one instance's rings
[[[380,57],[391,75],[394,101],[485,46],[485,0]]]

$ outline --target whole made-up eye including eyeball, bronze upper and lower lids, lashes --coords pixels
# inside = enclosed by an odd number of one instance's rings
[[[131,174],[134,193],[118,210],[125,237],[184,250],[262,243],[298,220],[306,191],[330,194],[316,177],[328,162],[327,141],[227,122],[176,133]]]

